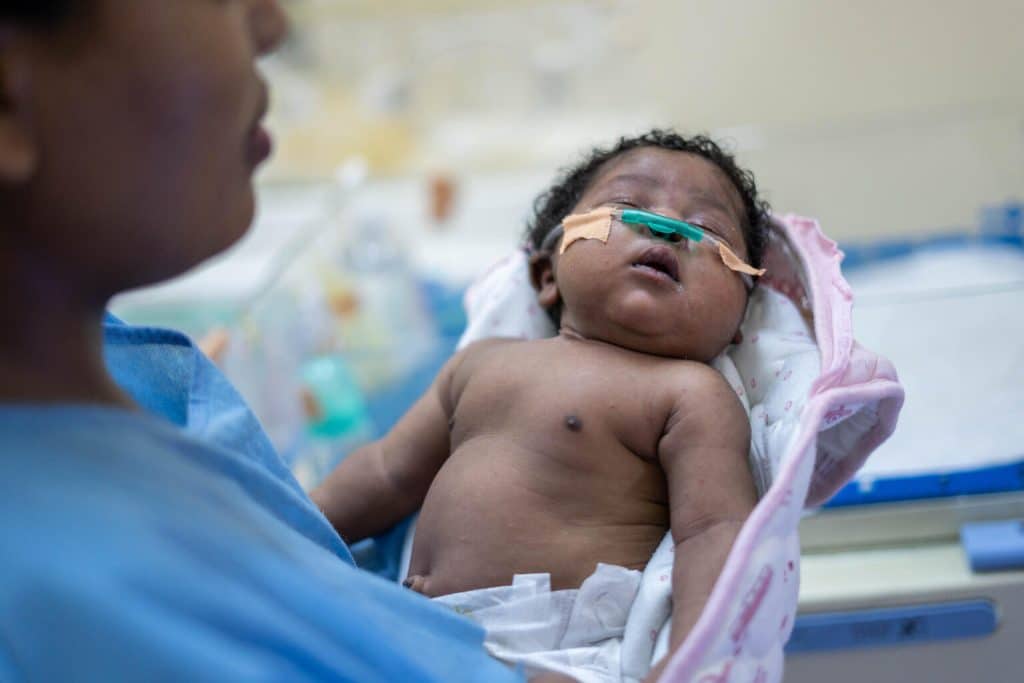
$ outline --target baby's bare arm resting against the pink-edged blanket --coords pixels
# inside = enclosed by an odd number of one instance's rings
[[[670,655],[699,618],[732,543],[757,504],[750,444],[750,419],[736,394],[721,375],[701,367],[687,378],[657,447],[676,544]],[[668,658],[648,680],[656,680]]]

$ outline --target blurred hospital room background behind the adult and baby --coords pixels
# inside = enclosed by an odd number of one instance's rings
[[[1024,3],[285,7],[253,228],[112,310],[200,343],[305,488],[427,389],[560,169],[707,133],[837,243],[853,338],[905,392],[802,513],[783,680],[1022,680]]]

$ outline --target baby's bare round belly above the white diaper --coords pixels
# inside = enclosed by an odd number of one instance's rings
[[[624,454],[623,458],[635,458]],[[668,529],[664,477],[635,459],[574,467],[499,439],[452,455],[417,523],[410,577],[429,596],[547,572],[577,588],[598,562],[642,569]]]

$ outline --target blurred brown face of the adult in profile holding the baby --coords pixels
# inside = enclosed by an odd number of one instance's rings
[[[23,251],[114,294],[245,233],[270,153],[255,59],[286,24],[276,0],[88,2],[75,26],[25,31],[5,55],[35,162],[5,180],[4,204]]]

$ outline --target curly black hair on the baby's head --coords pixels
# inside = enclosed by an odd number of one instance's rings
[[[580,164],[563,170],[555,184],[534,202],[534,218],[526,225],[526,240],[529,246],[535,250],[541,248],[545,237],[572,211],[607,162],[638,147],[686,152],[703,157],[718,166],[732,181],[743,201],[742,229],[746,240],[746,250],[750,253],[751,265],[756,268],[761,266],[771,207],[758,197],[754,174],[739,168],[732,155],[710,137],[705,135],[684,137],[675,131],[659,128],[635,137],[622,137],[611,147],[595,147]]]

